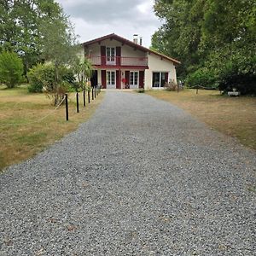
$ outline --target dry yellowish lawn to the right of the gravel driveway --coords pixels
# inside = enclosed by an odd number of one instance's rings
[[[149,90],[147,94],[172,102],[213,129],[236,137],[256,150],[256,97],[221,96],[217,90]]]

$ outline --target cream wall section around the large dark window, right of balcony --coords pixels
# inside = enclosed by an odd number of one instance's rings
[[[177,83],[176,69],[172,61],[162,59],[159,55],[151,53],[148,55],[148,69],[145,71],[145,89],[152,88],[152,73],[153,72],[168,72],[168,82],[173,80]]]

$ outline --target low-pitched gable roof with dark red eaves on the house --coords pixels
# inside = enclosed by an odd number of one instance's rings
[[[160,54],[160,53],[158,53],[158,52],[156,52],[156,51],[154,51],[152,49],[148,49],[148,48],[146,48],[146,47],[144,47],[144,46],[142,46],[140,44],[135,44],[134,42],[132,42],[132,41],[126,39],[126,38],[122,38],[122,37],[116,35],[115,33],[109,34],[109,35],[101,37],[101,38],[96,38],[96,39],[84,42],[82,45],[83,46],[89,46],[90,44],[100,43],[103,40],[107,40],[107,39],[115,39],[115,40],[117,40],[117,41],[119,41],[119,42],[121,42],[123,44],[127,44],[127,45],[129,45],[129,46],[131,46],[133,48],[140,49],[143,52],[148,52],[149,54],[153,53],[154,55],[159,55],[161,58],[164,58],[164,59],[166,59],[168,61],[172,61],[175,64],[180,64],[180,61],[177,61],[177,60],[175,60],[175,59],[173,59],[173,58],[171,58],[169,56],[162,55],[162,54]]]

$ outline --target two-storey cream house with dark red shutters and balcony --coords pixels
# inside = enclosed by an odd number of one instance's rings
[[[140,42],[138,42],[140,41]],[[85,42],[84,56],[95,69],[91,84],[105,89],[159,89],[166,82],[177,82],[175,67],[180,62],[116,34]]]

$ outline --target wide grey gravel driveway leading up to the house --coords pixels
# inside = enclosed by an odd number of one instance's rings
[[[107,91],[0,174],[0,255],[256,255],[255,156],[167,102]]]

